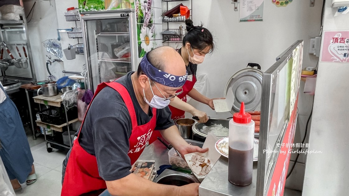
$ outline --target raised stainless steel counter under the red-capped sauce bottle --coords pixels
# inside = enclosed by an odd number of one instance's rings
[[[228,181],[228,158],[221,156],[199,186],[199,196],[255,196],[257,161],[253,163],[252,183],[236,186]]]

